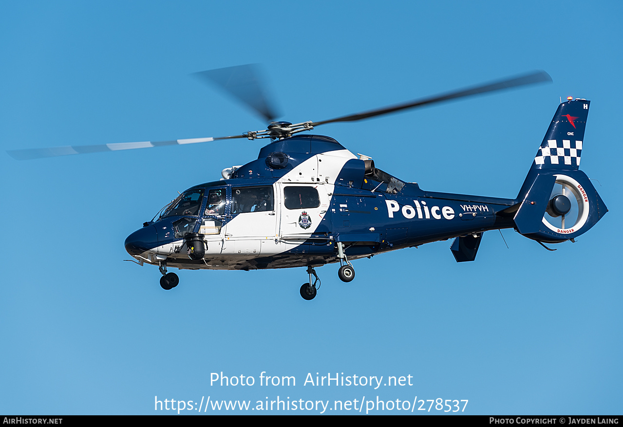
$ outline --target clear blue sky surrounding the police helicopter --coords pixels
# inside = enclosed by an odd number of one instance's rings
[[[622,9],[612,1],[4,2],[2,153],[264,129],[191,76],[242,63],[262,63],[282,118],[293,122],[543,69],[553,84],[317,133],[422,189],[512,198],[559,97],[587,98],[581,168],[599,180],[610,212],[555,252],[505,230],[510,248],[487,232],[473,263],[455,263],[450,242],[437,242],[355,261],[350,284],[328,265],[317,270],[313,301],[298,293],[304,268],[184,270],[167,292],[157,268],[123,261],[126,236],[178,191],[257,157],[262,143],[24,162],[4,153],[0,413],[153,415],[166,413],[154,411],[156,395],[252,406],[278,395],[468,399],[467,414],[620,414]],[[294,375],[297,385],[211,387],[221,371],[256,381],[262,371]],[[412,375],[414,385],[303,386],[308,372]]]

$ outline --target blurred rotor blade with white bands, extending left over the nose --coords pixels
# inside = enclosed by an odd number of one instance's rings
[[[101,153],[102,151],[133,150],[138,148],[164,147],[168,145],[185,145],[208,143],[217,139],[247,138],[246,135],[217,136],[214,138],[174,139],[173,141],[141,141],[138,143],[113,143],[99,145],[65,145],[62,147],[29,148],[9,150],[9,156],[16,160],[41,159],[43,157],[70,156],[71,154]]]

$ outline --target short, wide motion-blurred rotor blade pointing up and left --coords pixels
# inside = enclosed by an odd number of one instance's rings
[[[270,96],[257,65],[218,68],[194,73],[194,75],[204,81],[216,83],[234,98],[260,113],[266,121],[273,121],[279,116],[273,108],[274,103],[269,99]]]

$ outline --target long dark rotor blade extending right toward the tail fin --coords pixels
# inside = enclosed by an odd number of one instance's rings
[[[374,116],[380,116],[384,114],[394,113],[400,110],[406,110],[407,108],[416,108],[418,106],[424,106],[436,102],[453,100],[455,98],[463,98],[464,96],[478,95],[478,93],[491,92],[495,90],[510,89],[513,87],[532,85],[540,82],[551,82],[551,77],[545,71],[533,72],[520,77],[510,78],[502,80],[500,82],[487,83],[476,87],[470,87],[452,91],[449,93],[442,93],[440,95],[430,96],[429,98],[422,98],[420,100],[410,101],[404,104],[387,106],[379,108],[378,110],[364,111],[363,113],[356,113],[353,115],[342,116],[335,119],[316,121],[311,123],[312,126],[318,126],[320,124],[335,123],[337,121],[356,121],[363,120]]]

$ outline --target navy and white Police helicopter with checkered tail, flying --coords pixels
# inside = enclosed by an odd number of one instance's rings
[[[338,277],[354,279],[351,263],[379,253],[454,239],[457,262],[475,260],[483,233],[513,228],[545,244],[582,235],[607,212],[579,171],[590,101],[567,98],[558,106],[515,199],[422,190],[353,154],[328,136],[300,134],[322,124],[364,120],[491,91],[551,82],[545,72],[430,96],[420,100],[292,124],[277,114],[252,65],[196,73],[242,101],[269,122],[267,129],[210,138],[62,146],[7,151],[18,160],[98,153],[221,139],[269,139],[257,159],[226,167],[222,179],[194,185],[166,204],[125,240],[138,265],[158,266],[170,290],[179,270],[307,268],[303,299],[320,288],[316,268],[340,263]]]

